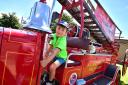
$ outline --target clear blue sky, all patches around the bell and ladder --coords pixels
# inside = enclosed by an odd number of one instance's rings
[[[28,18],[34,3],[39,0],[0,0],[0,13],[16,12],[16,15]],[[99,0],[103,8],[122,31],[122,37],[128,39],[128,0]],[[61,6],[55,4],[55,11]]]

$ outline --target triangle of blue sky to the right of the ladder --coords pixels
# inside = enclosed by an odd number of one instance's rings
[[[116,25],[122,37],[128,39],[128,0],[99,0]]]

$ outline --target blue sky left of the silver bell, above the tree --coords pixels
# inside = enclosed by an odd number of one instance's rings
[[[16,12],[19,18],[28,17],[31,7],[36,1],[38,0],[1,0],[0,13]]]

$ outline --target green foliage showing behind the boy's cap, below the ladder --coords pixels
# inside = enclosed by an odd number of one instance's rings
[[[73,18],[71,18],[70,16],[68,16],[66,13],[63,13],[63,15],[62,15],[62,20],[68,22],[69,24],[75,24],[75,23],[73,22]],[[57,22],[58,22],[58,19],[52,21],[51,29],[52,29],[53,33],[55,33],[55,30],[56,30],[56,23],[57,23]]]

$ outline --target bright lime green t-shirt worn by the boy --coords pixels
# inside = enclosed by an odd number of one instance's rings
[[[60,52],[56,55],[56,57],[67,59],[67,39],[66,36],[57,37],[56,34],[53,34],[53,39],[50,41],[50,44],[53,48],[59,48]]]

